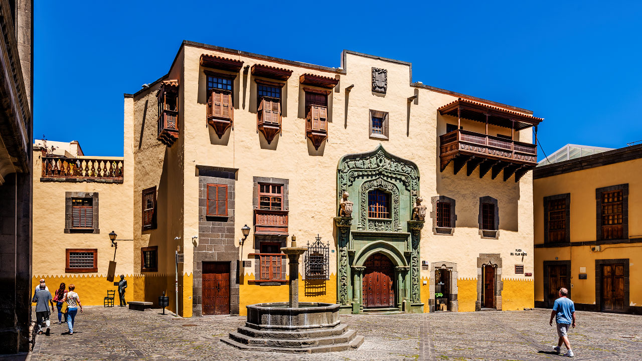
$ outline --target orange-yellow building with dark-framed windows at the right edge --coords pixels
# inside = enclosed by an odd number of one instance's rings
[[[642,146],[534,171],[535,304],[568,288],[578,310],[640,313]]]

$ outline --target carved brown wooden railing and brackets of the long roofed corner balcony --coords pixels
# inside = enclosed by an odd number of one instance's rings
[[[537,165],[537,148],[534,144],[511,141],[501,137],[454,130],[440,136],[440,170],[444,172],[451,161],[455,174],[464,166],[471,175],[480,166],[480,178],[492,170],[492,179],[504,171],[504,181],[515,174],[515,181]]]

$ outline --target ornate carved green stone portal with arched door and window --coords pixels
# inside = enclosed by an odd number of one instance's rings
[[[364,307],[423,312],[419,243],[426,207],[421,198],[417,202],[417,165],[381,145],[345,155],[337,168],[337,192],[340,312],[360,313]]]

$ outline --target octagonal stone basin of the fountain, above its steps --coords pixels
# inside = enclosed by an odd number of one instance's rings
[[[287,302],[247,306],[247,327],[255,330],[306,331],[334,328],[339,321],[339,304],[301,302],[290,308]]]

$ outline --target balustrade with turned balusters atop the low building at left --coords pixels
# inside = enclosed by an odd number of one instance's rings
[[[42,178],[123,182],[122,159],[42,157]]]

